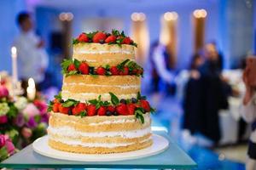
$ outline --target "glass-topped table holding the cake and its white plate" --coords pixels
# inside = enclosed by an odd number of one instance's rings
[[[41,156],[32,149],[32,144],[20,150],[14,156],[0,163],[0,167],[7,168],[144,168],[144,169],[192,169],[197,167],[193,161],[177,144],[164,132],[154,132],[169,140],[169,148],[164,152],[141,159],[127,161],[65,161]]]

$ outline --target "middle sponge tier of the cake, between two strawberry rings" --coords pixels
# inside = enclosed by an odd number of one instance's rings
[[[61,96],[63,99],[88,101],[101,95],[102,100],[109,101],[111,96],[108,93],[111,92],[119,99],[131,99],[137,97],[140,87],[141,77],[136,76],[73,75],[63,77]]]

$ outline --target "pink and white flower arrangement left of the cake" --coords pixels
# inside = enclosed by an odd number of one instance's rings
[[[34,100],[13,99],[0,85],[0,161],[44,136],[48,119],[47,104],[40,95]]]

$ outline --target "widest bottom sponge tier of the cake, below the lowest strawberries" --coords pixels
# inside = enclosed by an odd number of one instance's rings
[[[151,119],[145,122],[132,116],[68,116],[51,113],[49,117],[49,146],[84,154],[108,154],[141,150],[150,146]]]

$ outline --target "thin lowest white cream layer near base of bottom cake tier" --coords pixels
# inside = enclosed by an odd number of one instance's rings
[[[147,142],[151,138],[142,140],[140,143]],[[53,139],[55,141],[61,142],[63,144],[69,144],[69,145],[81,145],[84,147],[104,147],[104,148],[115,148],[119,146],[128,146],[131,144],[135,144],[134,142],[131,143],[84,143],[79,140],[67,140],[67,139]]]

